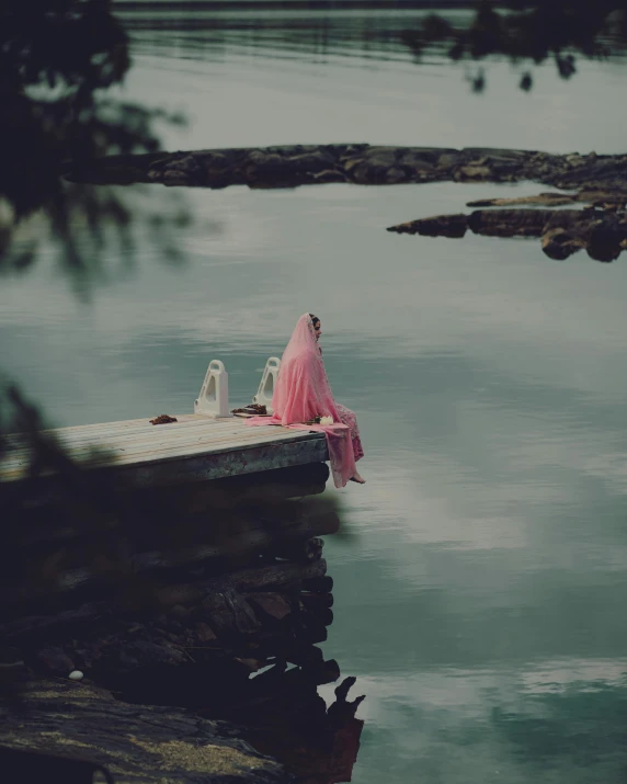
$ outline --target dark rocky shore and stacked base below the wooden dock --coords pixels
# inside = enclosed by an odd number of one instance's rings
[[[124,486],[134,514],[102,531],[50,524],[60,498],[45,484],[16,489],[29,509],[0,580],[2,770],[38,781],[25,771],[59,765],[59,780],[78,781],[66,773],[89,764],[116,784],[350,781],[363,697],[347,700],[355,679],[340,680],[319,647],[333,622],[320,537],[340,519],[310,497],[328,477],[315,463]],[[102,563],[106,543],[115,566]],[[33,579],[52,563],[54,581]],[[317,688],[335,682],[328,706]]]

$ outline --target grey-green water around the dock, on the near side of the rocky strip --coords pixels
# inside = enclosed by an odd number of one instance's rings
[[[612,675],[598,700],[624,705],[627,268],[385,231],[495,191],[196,191],[182,266],[146,251],[90,307],[45,268],[0,292],[1,364],[57,424],[190,411],[214,357],[244,402],[296,318],[322,317],[367,453],[368,484],[342,492],[355,537],[327,545],[324,652],[368,695],[360,784],[583,784],[623,765],[579,765],[568,705],[593,737],[607,725],[574,682]],[[538,668],[562,673],[565,703],[535,700]]]

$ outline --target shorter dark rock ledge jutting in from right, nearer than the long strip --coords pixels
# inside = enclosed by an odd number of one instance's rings
[[[614,261],[627,250],[627,213],[616,205],[608,209],[477,209],[470,215],[419,218],[388,231],[464,237],[467,229],[486,237],[539,237],[551,259],[567,259],[585,248],[596,261]]]

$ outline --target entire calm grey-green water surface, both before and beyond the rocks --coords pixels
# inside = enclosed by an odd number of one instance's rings
[[[396,43],[415,15],[136,16],[123,94],[189,115],[168,148],[624,150],[622,59],[569,82],[543,67],[531,94],[493,61],[476,95],[466,66]],[[92,304],[52,243],[3,282],[2,364],[57,424],[191,410],[214,357],[248,401],[297,317],[322,317],[366,447],[368,484],[341,491],[351,537],[327,544],[324,650],[367,694],[357,784],[625,781],[627,266],[385,231],[538,190],[133,189],[189,211],[175,263],[139,226],[135,254],[111,240]]]

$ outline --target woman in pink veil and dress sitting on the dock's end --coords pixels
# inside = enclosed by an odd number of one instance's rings
[[[364,456],[357,418],[335,402],[318,345],[320,319],[304,314],[296,323],[278,370],[272,396],[272,417],[253,417],[249,424],[281,424],[296,430],[317,430],[327,436],[335,487],[349,481],[365,484],[355,463]],[[321,418],[320,424],[305,424]]]

